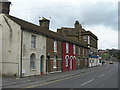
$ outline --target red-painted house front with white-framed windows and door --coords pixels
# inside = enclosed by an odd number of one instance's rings
[[[76,46],[74,44],[63,42],[62,43],[62,71],[70,71],[76,69]]]

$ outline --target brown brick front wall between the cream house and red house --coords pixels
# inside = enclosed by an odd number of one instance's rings
[[[62,70],[62,43],[61,41],[57,41],[57,52],[54,52],[54,39],[47,38],[46,42],[46,55],[49,56],[49,60],[47,62],[48,70],[47,72],[56,72]],[[53,68],[53,58],[57,56],[57,68]]]

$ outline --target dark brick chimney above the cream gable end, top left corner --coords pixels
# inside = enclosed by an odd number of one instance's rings
[[[0,14],[8,14],[10,12],[10,4],[11,2],[8,0],[0,0]]]

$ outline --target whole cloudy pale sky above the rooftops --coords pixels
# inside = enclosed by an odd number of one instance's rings
[[[74,27],[76,20],[98,36],[98,49],[118,49],[119,0],[9,0],[10,15],[39,25],[50,20],[50,29]]]

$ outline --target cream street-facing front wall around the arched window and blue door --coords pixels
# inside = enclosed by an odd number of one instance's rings
[[[36,36],[36,48],[31,48],[31,35]],[[23,71],[25,72],[25,76],[30,75],[38,75],[40,74],[40,62],[41,62],[41,56],[44,55],[46,57],[46,37],[23,31]],[[30,55],[34,53],[36,55],[36,61],[35,61],[35,69],[30,69]],[[46,74],[46,60],[44,59],[44,70],[43,74]]]

